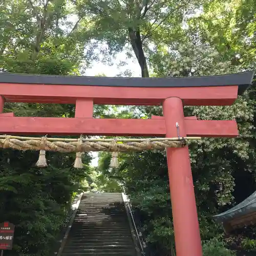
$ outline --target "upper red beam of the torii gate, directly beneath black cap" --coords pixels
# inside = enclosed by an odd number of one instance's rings
[[[231,105],[238,86],[211,87],[97,87],[58,84],[0,83],[0,95],[9,102],[69,103],[90,98],[94,104],[160,105],[169,97],[179,97],[184,105]]]

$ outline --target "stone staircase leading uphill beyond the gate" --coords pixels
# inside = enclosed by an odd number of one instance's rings
[[[122,195],[83,194],[61,256],[137,256]]]

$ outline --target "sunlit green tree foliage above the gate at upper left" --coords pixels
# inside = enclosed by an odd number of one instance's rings
[[[5,0],[0,11],[0,69],[47,74],[51,64],[78,73],[77,67],[87,55],[71,33],[76,26],[71,27],[72,10],[67,1]]]

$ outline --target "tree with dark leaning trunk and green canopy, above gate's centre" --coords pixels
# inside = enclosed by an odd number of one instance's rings
[[[107,42],[111,54],[126,50],[131,57],[132,49],[141,76],[148,77],[147,55],[154,52],[158,44],[162,45],[167,35],[168,40],[180,36],[184,13],[190,13],[195,3],[187,0],[79,0],[75,5],[81,19],[80,30],[85,28],[88,35],[87,19],[85,25],[83,22],[84,13],[88,13],[93,23],[90,38]]]

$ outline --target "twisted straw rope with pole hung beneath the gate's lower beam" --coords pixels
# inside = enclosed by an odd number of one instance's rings
[[[164,150],[167,147],[183,147],[187,140],[200,140],[200,137],[152,138],[152,139],[60,139],[0,136],[0,148],[13,148],[21,151],[53,152],[131,152],[144,150]]]

